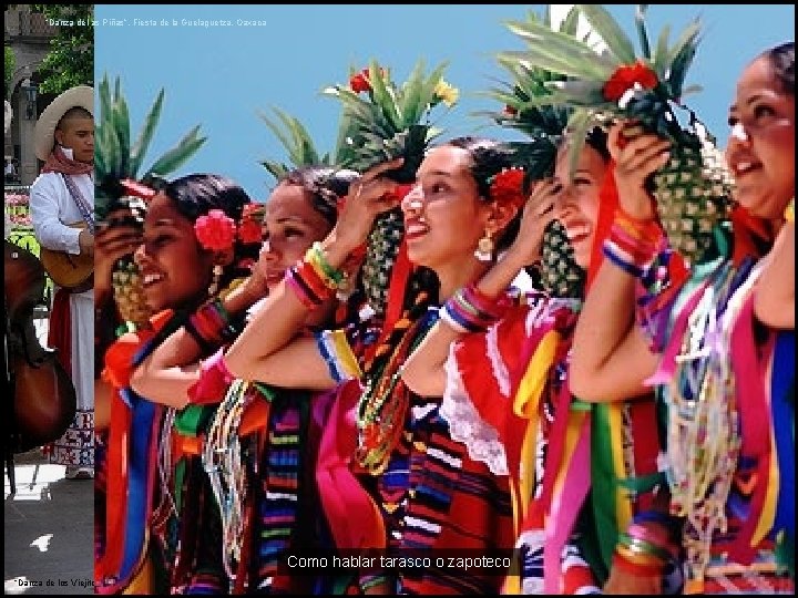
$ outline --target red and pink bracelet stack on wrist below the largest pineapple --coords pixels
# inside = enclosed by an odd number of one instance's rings
[[[623,271],[641,278],[656,257],[662,240],[662,228],[655,220],[640,220],[618,208],[603,252]]]

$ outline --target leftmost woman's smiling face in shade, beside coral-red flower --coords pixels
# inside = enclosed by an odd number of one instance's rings
[[[144,295],[153,311],[191,306],[207,296],[213,254],[203,249],[194,223],[163,194],[151,202],[144,218],[144,244],[135,251]]]

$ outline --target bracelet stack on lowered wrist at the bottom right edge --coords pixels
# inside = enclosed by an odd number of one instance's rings
[[[636,576],[661,576],[676,559],[677,548],[669,530],[662,524],[653,527],[641,522],[630,525],[625,534],[618,534],[613,566]]]

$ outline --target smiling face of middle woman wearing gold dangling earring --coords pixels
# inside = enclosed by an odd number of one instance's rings
[[[490,206],[479,196],[471,155],[444,145],[424,157],[417,184],[401,203],[408,257],[438,271],[473,260],[485,234]]]

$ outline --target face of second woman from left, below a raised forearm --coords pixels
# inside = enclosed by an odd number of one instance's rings
[[[262,268],[269,291],[283,280],[285,271],[299,261],[308,248],[324,239],[332,226],[313,207],[300,185],[282,183],[266,203]]]

